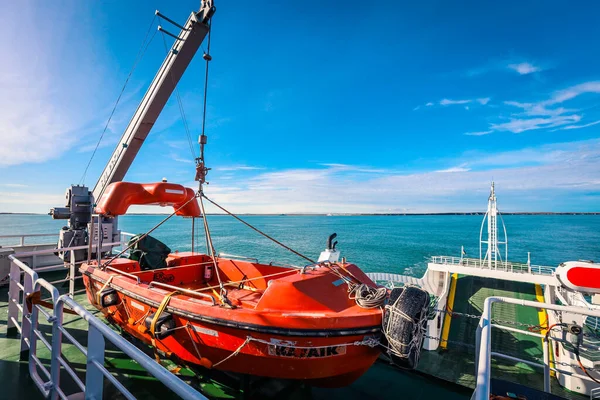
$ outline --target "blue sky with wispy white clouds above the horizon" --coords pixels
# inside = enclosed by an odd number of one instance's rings
[[[0,4],[0,211],[61,205],[154,10],[183,22],[197,3]],[[206,192],[233,211],[481,210],[492,179],[505,211],[600,211],[597,3],[216,5]],[[90,187],[164,56],[158,34]],[[179,85],[194,137],[203,74],[198,56]],[[172,99],[126,179],[193,175]]]

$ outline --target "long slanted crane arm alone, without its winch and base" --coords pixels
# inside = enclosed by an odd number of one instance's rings
[[[200,11],[192,12],[183,27],[174,23],[183,29],[176,37],[175,43],[152,80],[131,121],[129,121],[106,167],[104,167],[93,190],[95,201],[99,201],[108,185],[121,181],[125,177],[152,126],[154,126],[177,83],[208,34],[210,29],[209,19],[214,11],[213,1],[205,0],[202,2]],[[173,23],[168,18],[165,19]]]

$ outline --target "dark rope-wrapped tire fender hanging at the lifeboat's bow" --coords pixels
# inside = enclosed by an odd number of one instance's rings
[[[400,368],[414,369],[425,337],[429,294],[417,286],[391,291],[381,331],[384,352]]]

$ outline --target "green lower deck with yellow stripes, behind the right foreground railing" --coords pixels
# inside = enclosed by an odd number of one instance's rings
[[[484,300],[490,296],[536,300],[533,284],[460,276],[457,281],[454,311],[479,317]],[[494,305],[492,318],[533,326],[540,324],[537,310],[514,304]],[[422,352],[419,371],[474,388],[475,332],[478,322],[478,318],[455,315],[450,325],[447,350]],[[541,362],[543,358],[541,339],[499,329],[492,330],[492,351],[534,362]],[[524,363],[492,358],[492,376],[543,390],[544,379],[541,370]],[[569,399],[587,398],[562,389],[556,379],[552,380],[552,393]]]

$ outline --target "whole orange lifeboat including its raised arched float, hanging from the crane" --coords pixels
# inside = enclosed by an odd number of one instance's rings
[[[180,215],[199,216],[194,192],[184,189],[167,183],[116,183],[97,211],[115,216],[131,204],[168,204],[183,207]],[[331,238],[329,242],[328,249],[335,251]],[[126,258],[80,267],[90,303],[130,335],[153,345],[157,358],[339,387],[366,372],[381,353],[385,299],[364,308],[349,288],[389,292],[354,264],[328,259],[302,268],[275,266],[168,248],[163,261],[155,269]],[[394,293],[390,298],[398,297]],[[426,318],[425,297],[417,308],[410,302],[418,311],[415,324]],[[422,337],[402,335],[416,343],[418,352]],[[392,340],[385,343],[393,345]]]

